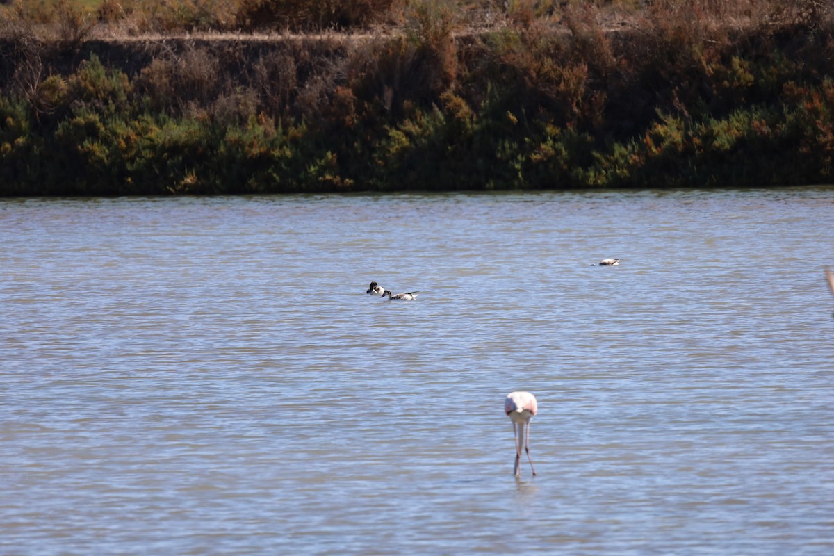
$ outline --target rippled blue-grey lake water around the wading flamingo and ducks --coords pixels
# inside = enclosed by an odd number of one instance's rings
[[[834,553],[832,224],[834,188],[2,200],[0,554]]]

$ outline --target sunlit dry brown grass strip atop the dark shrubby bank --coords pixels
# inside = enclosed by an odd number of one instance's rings
[[[448,35],[495,28],[605,33],[631,28],[714,29],[776,24],[815,26],[832,18],[828,0],[13,0],[0,7],[0,33],[28,29],[38,38],[82,42],[183,33]],[[583,34],[587,34],[586,31]]]

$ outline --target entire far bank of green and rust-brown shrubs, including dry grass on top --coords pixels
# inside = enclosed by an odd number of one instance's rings
[[[823,0],[0,4],[7,197],[832,183],[832,111]]]

